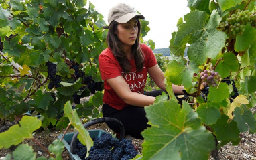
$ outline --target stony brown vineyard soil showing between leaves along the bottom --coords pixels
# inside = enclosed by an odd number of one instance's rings
[[[256,107],[252,108],[252,111],[255,112]],[[9,123],[7,123],[9,124]],[[0,126],[0,129],[3,129],[4,126]],[[107,127],[105,123],[99,123],[96,125],[92,125],[88,127],[88,129],[103,129],[107,132],[111,132],[111,129]],[[72,132],[74,129],[69,129],[68,132]],[[57,139],[57,136],[61,133],[64,133],[64,130],[57,131],[55,128],[47,129],[45,131],[37,131],[34,135],[34,138],[39,141],[44,147],[48,148],[48,146]],[[237,146],[233,146],[232,144],[227,144],[220,148],[219,156],[221,160],[256,160],[256,134],[249,133],[241,133],[241,142]],[[23,143],[28,143],[34,148],[34,152],[37,153],[37,157],[48,157],[47,153],[34,141],[29,139],[23,141]],[[138,147],[138,152],[141,153],[142,148],[141,144],[142,140],[134,139],[133,144]],[[12,153],[15,150],[15,147],[11,147],[9,149],[0,149],[0,158],[4,157],[8,153]],[[62,153],[62,158],[64,160],[71,159],[70,154],[65,149]],[[208,160],[214,160],[212,157],[209,157]]]

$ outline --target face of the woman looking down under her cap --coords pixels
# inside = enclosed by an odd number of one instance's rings
[[[115,34],[124,46],[132,46],[138,35],[138,19],[133,18],[124,24],[118,23]]]

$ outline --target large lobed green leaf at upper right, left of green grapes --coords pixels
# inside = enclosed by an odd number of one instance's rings
[[[186,23],[180,26],[174,44],[189,43],[189,60],[203,64],[206,58],[216,58],[221,48],[225,46],[227,35],[218,31],[221,17],[216,10],[212,11],[207,23],[208,15],[202,11],[192,11],[184,16]],[[191,27],[193,26],[193,27]]]

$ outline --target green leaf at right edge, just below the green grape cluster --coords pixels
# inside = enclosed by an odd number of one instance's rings
[[[251,25],[245,25],[245,31],[242,35],[237,35],[235,42],[235,50],[237,52],[248,49],[254,42],[256,37],[256,29]]]

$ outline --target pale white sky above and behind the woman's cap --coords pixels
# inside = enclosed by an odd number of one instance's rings
[[[187,0],[90,0],[95,9],[104,16],[107,23],[109,9],[117,3],[126,3],[139,11],[149,21],[150,31],[144,40],[152,39],[155,48],[168,48],[172,32],[177,31],[176,24],[180,17],[190,12]]]

